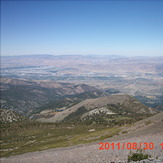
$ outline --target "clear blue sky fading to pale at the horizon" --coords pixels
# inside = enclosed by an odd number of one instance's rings
[[[163,56],[162,0],[1,1],[1,55]]]

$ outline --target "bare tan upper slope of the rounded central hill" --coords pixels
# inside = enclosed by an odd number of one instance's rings
[[[64,120],[70,114],[73,114],[79,111],[80,108],[84,108],[86,111],[90,111],[97,108],[108,107],[109,105],[117,105],[121,106],[121,109],[125,109],[129,112],[133,113],[145,113],[145,114],[154,114],[156,113],[155,110],[148,108],[147,106],[141,104],[139,101],[134,99],[133,97],[126,95],[126,94],[119,94],[119,95],[110,95],[105,97],[99,97],[95,99],[87,99],[84,100],[65,111],[59,112],[55,114],[55,116],[51,118],[40,118],[39,121],[44,122],[59,122]],[[84,114],[84,113],[83,113]]]

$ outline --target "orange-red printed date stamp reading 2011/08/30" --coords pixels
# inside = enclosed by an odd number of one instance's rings
[[[136,142],[128,142],[128,143],[108,143],[108,142],[100,142],[99,143],[100,147],[99,150],[109,150],[109,149],[118,149],[118,150],[124,150],[124,149],[128,149],[128,150],[137,150],[137,149],[144,149],[144,150],[153,150],[155,149],[155,144],[152,142],[140,142],[140,143],[136,143]],[[161,149],[163,150],[163,143],[159,144]]]

